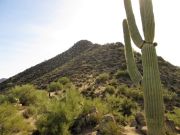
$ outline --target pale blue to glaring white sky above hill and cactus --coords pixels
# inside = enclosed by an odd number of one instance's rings
[[[153,3],[157,53],[180,66],[180,1]],[[123,42],[124,18],[123,0],[0,0],[0,78],[56,56],[81,39]]]

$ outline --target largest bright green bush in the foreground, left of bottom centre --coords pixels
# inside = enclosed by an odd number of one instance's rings
[[[68,135],[70,124],[82,111],[83,97],[75,89],[67,90],[64,98],[52,100],[48,113],[37,120],[37,129],[44,135]]]

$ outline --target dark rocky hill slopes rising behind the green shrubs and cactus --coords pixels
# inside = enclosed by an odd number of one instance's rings
[[[140,54],[136,53],[135,57],[142,73]],[[158,61],[163,85],[179,95],[180,68],[161,57]],[[67,76],[77,86],[82,86],[87,84],[88,79],[95,78],[100,73],[113,74],[117,70],[126,70],[124,46],[121,43],[98,45],[81,40],[64,53],[9,78],[0,84],[0,90],[26,83],[45,88],[47,84],[62,76]],[[129,79],[122,83],[132,85]]]

